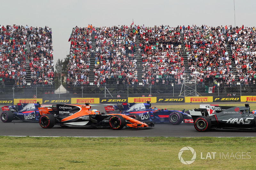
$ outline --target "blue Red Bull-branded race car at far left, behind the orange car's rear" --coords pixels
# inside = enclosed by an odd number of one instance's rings
[[[17,103],[17,105],[2,107],[2,122],[17,121],[39,121],[41,114],[38,110],[40,103]]]

